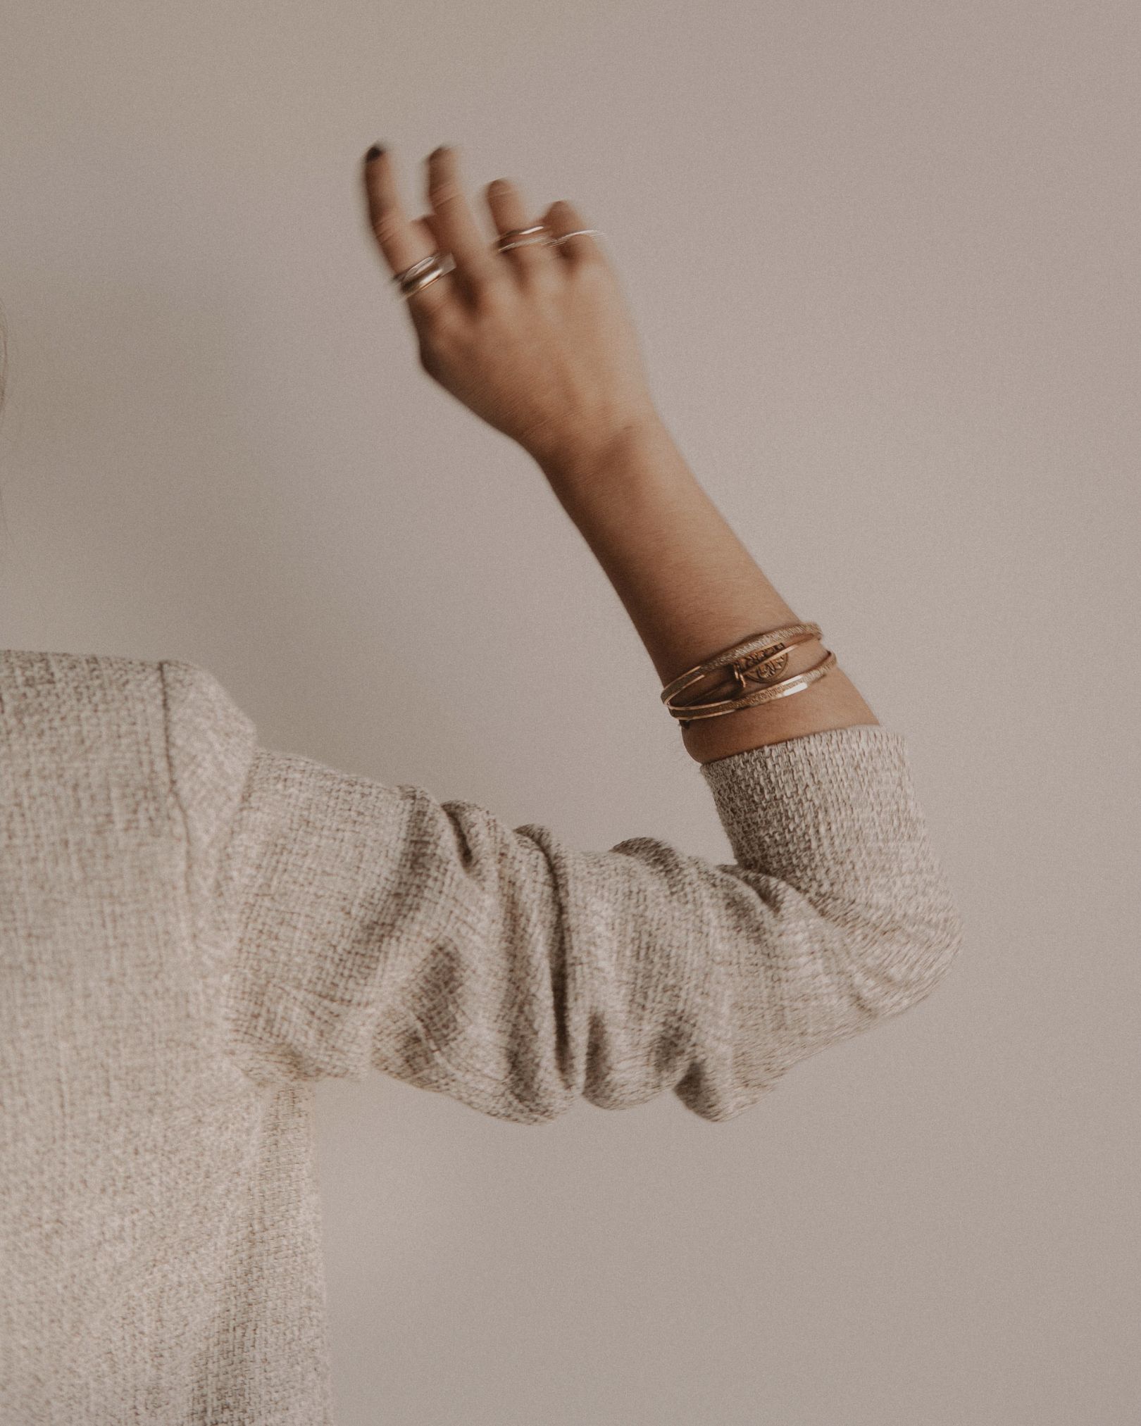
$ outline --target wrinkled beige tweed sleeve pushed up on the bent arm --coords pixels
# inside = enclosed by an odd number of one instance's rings
[[[653,837],[579,850],[265,749],[205,670],[164,670],[191,894],[255,1078],[378,1070],[519,1124],[672,1091],[723,1121],[923,1000],[960,948],[883,727],[703,764],[736,858],[715,864]]]

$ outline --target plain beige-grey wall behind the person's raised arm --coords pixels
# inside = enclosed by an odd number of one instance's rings
[[[730,860],[529,458],[364,225],[459,147],[606,232],[653,395],[909,743],[967,925],[736,1121],[318,1088],[341,1426],[1135,1426],[1138,16],[16,0],[0,645],[265,746]],[[491,240],[491,227],[488,227]],[[1131,637],[1132,636],[1132,637]]]

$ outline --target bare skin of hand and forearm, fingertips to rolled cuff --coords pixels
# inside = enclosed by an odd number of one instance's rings
[[[451,148],[428,158],[431,211],[415,222],[402,210],[389,154],[369,157],[365,190],[372,231],[398,281],[434,252],[442,262],[406,294],[424,369],[536,459],[663,686],[745,637],[800,622],[662,422],[618,275],[576,208],[559,201],[532,222],[515,185],[496,180],[486,190],[499,232],[492,245],[468,207]],[[512,240],[518,245],[501,251]],[[782,676],[806,672],[823,655],[819,640],[793,646]],[[683,702],[722,697],[719,684],[722,676],[709,676]],[[877,722],[833,667],[803,692],[693,720],[682,736],[690,756],[707,763]]]

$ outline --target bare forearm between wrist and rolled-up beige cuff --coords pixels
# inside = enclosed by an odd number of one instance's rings
[[[760,572],[660,422],[639,428],[605,455],[561,456],[542,469],[605,569],[663,686],[750,635],[804,622]],[[823,656],[816,639],[796,645],[782,677],[806,672]],[[705,702],[719,680],[725,674],[693,684],[682,702]],[[662,716],[669,717],[665,706]],[[682,740],[696,761],[709,763],[877,722],[837,666],[803,693],[697,719]]]

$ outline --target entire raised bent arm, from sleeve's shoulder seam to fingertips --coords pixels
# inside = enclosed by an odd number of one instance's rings
[[[580,217],[555,204],[555,238],[502,252],[451,161],[431,173],[434,214],[412,225],[388,167],[367,168],[394,274],[436,247],[456,260],[406,279],[422,364],[539,462],[662,679],[786,625],[658,421]],[[509,185],[489,205],[503,240],[538,227]],[[523,1124],[672,1089],[722,1121],[917,1004],[958,953],[903,739],[834,669],[687,729],[722,864],[646,836],[579,850],[274,752],[205,670],[164,663],[163,679],[195,930],[225,967],[222,1038],[260,1082],[375,1068]]]

